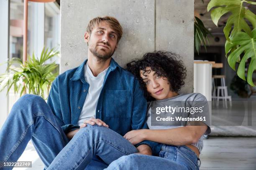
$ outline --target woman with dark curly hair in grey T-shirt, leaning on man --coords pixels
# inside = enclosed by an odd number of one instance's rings
[[[123,156],[111,163],[107,169],[199,169],[198,157],[203,147],[202,135],[210,134],[208,103],[205,96],[200,93],[178,93],[184,85],[186,68],[181,60],[176,59],[177,57],[179,56],[174,53],[159,51],[146,53],[141,60],[127,64],[128,70],[138,78],[146,98],[151,102],[147,112],[149,129],[132,130],[126,133],[124,138],[133,145],[143,140],[161,143],[161,151],[159,157],[141,154]],[[189,111],[168,114],[168,109],[175,107],[184,107]],[[161,110],[164,112],[157,113],[157,108],[164,108]],[[202,112],[200,110],[195,113],[195,108],[201,108]],[[167,121],[167,124],[166,121],[162,121],[163,123],[159,124],[155,120],[159,120],[160,115],[173,115],[174,120]],[[197,119],[199,121],[175,120],[180,115],[184,118],[203,118]]]

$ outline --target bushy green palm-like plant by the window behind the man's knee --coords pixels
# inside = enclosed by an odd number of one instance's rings
[[[58,72],[53,72],[58,65],[49,62],[49,59],[58,55],[59,52],[54,49],[43,48],[40,57],[33,53],[24,64],[19,58],[12,58],[8,61],[6,72],[0,75],[0,91],[8,88],[8,93],[13,87],[15,94],[20,93],[20,96],[26,90],[46,100],[51,84],[58,75]]]

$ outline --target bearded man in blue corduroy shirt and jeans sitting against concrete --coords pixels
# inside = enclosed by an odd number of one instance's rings
[[[146,100],[138,80],[111,58],[121,37],[122,27],[115,18],[90,21],[84,35],[88,60],[54,80],[48,105],[36,95],[24,95],[13,106],[0,131],[0,168],[16,162],[31,139],[46,167],[59,154],[52,169],[63,169],[60,164],[69,169],[67,166],[74,161],[78,161],[75,168],[83,169],[95,155],[87,169],[106,168],[111,161],[130,153],[152,154],[154,143],[143,141],[136,145],[137,151],[122,137],[130,130],[146,128]],[[99,138],[109,136],[115,143],[104,141],[108,154],[100,153],[99,146],[90,159],[87,153],[83,155]]]

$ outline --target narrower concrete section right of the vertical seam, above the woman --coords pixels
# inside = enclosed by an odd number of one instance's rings
[[[182,92],[193,92],[194,0],[156,0],[156,50],[180,55],[187,68]]]

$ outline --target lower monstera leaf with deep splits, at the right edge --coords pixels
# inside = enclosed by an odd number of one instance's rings
[[[247,72],[247,82],[249,85],[254,86],[252,76],[253,71],[256,70],[256,28],[252,30],[251,36],[246,32],[237,32],[235,35],[230,37],[232,44],[226,44],[225,50],[230,51],[234,46],[238,46],[236,50],[230,53],[228,56],[228,64],[233,70],[236,70],[236,61],[240,55],[244,52],[244,55],[238,66],[237,74],[238,76],[246,80],[245,78],[245,64],[246,61],[251,58],[248,72]]]

